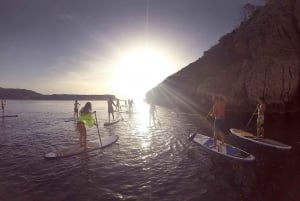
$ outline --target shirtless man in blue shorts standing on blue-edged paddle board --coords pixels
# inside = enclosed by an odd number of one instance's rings
[[[221,96],[213,96],[213,108],[212,112],[209,114],[214,117],[214,144],[212,148],[217,146],[218,137],[221,138],[222,145],[225,145],[225,100]]]

